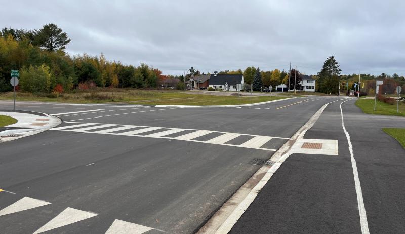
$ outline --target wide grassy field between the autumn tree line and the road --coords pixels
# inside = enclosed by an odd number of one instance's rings
[[[65,94],[18,93],[17,101],[46,101],[69,103],[128,103],[147,105],[236,105],[284,99],[275,96],[232,96],[190,94],[176,90],[99,89]],[[12,100],[13,93],[0,93],[0,99]]]

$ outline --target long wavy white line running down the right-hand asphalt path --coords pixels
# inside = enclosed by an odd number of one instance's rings
[[[365,207],[364,201],[363,201],[363,194],[361,191],[360,179],[358,178],[357,163],[356,163],[356,160],[354,159],[353,145],[351,144],[350,134],[346,131],[344,119],[343,119],[342,104],[347,101],[349,101],[349,100],[346,100],[346,101],[343,101],[340,103],[340,114],[341,114],[341,118],[342,118],[342,127],[343,127],[343,131],[345,132],[345,135],[347,138],[347,143],[349,144],[350,161],[351,161],[351,166],[353,168],[354,184],[356,187],[356,194],[357,194],[358,213],[360,215],[361,233],[369,234],[370,231],[369,231],[369,224],[367,221],[366,207]]]

